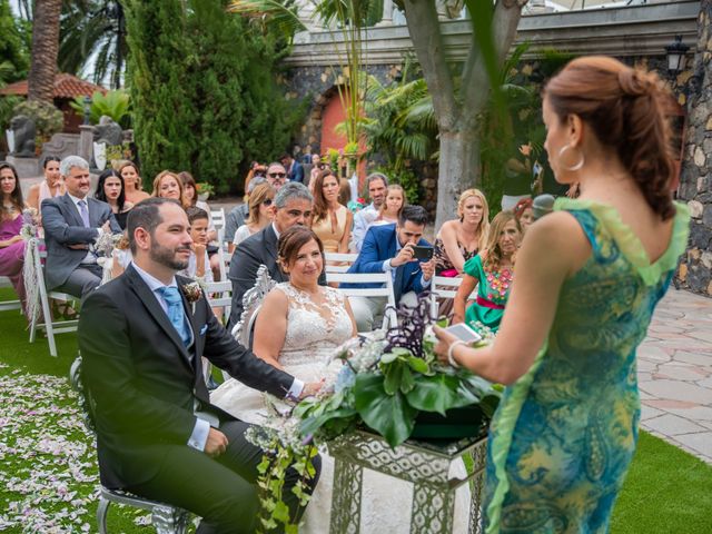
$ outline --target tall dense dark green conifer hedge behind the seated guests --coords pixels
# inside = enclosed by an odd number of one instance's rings
[[[218,192],[246,162],[286,148],[294,125],[275,82],[277,39],[225,0],[126,0],[128,85],[146,182],[189,170]]]

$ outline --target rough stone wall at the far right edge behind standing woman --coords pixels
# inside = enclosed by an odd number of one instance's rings
[[[690,79],[688,135],[679,198],[692,214],[690,243],[679,281],[712,296],[712,0],[702,0],[694,73]]]

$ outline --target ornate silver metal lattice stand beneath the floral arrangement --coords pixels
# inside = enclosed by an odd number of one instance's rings
[[[380,437],[357,431],[328,443],[334,457],[332,534],[357,534],[364,467],[413,483],[412,533],[451,533],[455,491],[472,481],[469,530],[479,533],[479,503],[484,484],[486,437],[461,439],[446,445],[407,441],[395,449]],[[451,464],[469,456],[466,478],[451,479]]]

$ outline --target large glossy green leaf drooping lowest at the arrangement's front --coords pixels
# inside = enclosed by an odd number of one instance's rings
[[[386,394],[384,380],[380,375],[356,377],[356,409],[366,425],[395,447],[411,436],[417,409],[408,405],[400,392],[395,395]]]

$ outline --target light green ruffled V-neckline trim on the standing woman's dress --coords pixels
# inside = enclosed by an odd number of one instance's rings
[[[645,251],[645,247],[621,219],[617,210],[613,206],[595,202],[593,200],[578,200],[560,197],[554,202],[554,210],[581,210],[586,209],[596,217],[599,222],[606,229],[609,235],[615,240],[621,253],[635,267],[643,283],[646,286],[657,284],[661,277],[678,266],[678,258],[688,247],[688,235],[690,234],[690,209],[682,202],[674,202],[675,216],[673,219],[672,236],[668,249],[653,264]]]

